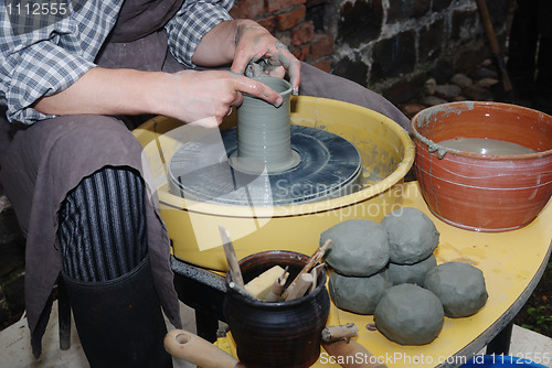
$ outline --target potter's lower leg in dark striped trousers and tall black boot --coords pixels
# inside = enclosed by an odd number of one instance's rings
[[[147,255],[144,184],[124,169],[85,177],[64,201],[63,278],[91,367],[171,367]]]

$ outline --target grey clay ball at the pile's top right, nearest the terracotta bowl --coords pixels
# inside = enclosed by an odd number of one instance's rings
[[[381,221],[389,235],[390,260],[396,264],[420,262],[439,243],[439,231],[426,214],[414,207],[389,213]]]

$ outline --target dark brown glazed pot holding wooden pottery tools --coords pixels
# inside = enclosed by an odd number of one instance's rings
[[[308,257],[293,251],[266,251],[240,261],[247,283],[278,264],[289,267],[288,283],[295,279]],[[226,277],[226,286],[231,277]],[[310,367],[320,355],[321,333],[330,311],[326,272],[318,286],[307,295],[289,302],[251,301],[226,288],[224,316],[236,343],[237,357],[247,368]]]

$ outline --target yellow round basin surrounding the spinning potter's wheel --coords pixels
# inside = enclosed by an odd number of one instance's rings
[[[201,139],[205,131],[166,117],[156,117],[134,131],[145,148],[144,159],[151,169],[148,182],[157,190],[177,258],[225,271],[219,225],[230,231],[238,259],[274,249],[310,255],[318,247],[320,232],[329,227],[353,218],[379,223],[401,205],[402,186],[397,184],[412,167],[414,145],[396,122],[367,108],[314,97],[294,97],[290,120],[354,144],[363,165],[362,188],[337,198],[274,207],[185,199],[169,192],[167,165],[182,144]],[[232,115],[221,129],[234,126]]]

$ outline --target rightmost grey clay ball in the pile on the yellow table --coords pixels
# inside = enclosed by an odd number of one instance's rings
[[[424,288],[437,295],[447,317],[467,317],[487,302],[485,278],[478,268],[463,262],[437,266],[425,278]]]

